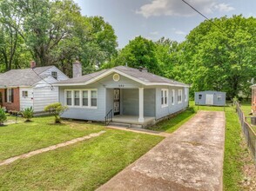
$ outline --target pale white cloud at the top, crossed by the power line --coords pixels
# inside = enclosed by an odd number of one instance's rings
[[[217,3],[217,0],[186,0],[194,8],[204,14],[210,14],[213,11],[227,12],[234,8],[226,3]],[[187,4],[181,0],[152,0],[136,11],[142,16],[193,16],[196,14]]]

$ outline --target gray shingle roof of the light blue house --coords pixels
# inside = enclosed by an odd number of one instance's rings
[[[117,66],[113,69],[116,69],[122,73],[125,73],[128,76],[131,77],[135,77],[138,80],[142,81],[142,82],[147,82],[147,83],[170,83],[173,85],[186,85],[185,83],[182,82],[177,82],[162,76],[157,76],[154,75],[152,73],[149,72],[141,72],[138,69],[133,69],[133,68],[129,68],[129,67],[125,67],[125,66]],[[72,83],[83,83],[83,82],[87,82],[89,80],[91,80],[92,78],[95,78],[101,74],[103,74],[104,72],[108,71],[110,69],[104,69],[95,73],[91,73],[89,75],[84,75],[84,76],[80,76],[80,77],[76,77],[76,78],[71,78],[62,82],[57,82],[57,84],[72,84]]]

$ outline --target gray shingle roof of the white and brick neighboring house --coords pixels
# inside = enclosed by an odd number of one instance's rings
[[[41,81],[45,76],[40,77],[40,74],[51,67],[53,66],[37,67],[34,71],[32,69],[11,69],[10,71],[0,74],[0,86],[31,86]]]

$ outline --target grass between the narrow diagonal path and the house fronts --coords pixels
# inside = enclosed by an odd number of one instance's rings
[[[14,120],[14,117],[9,119]],[[104,129],[103,125],[93,123],[53,122],[52,116],[45,116],[32,118],[32,122],[19,122],[0,127],[0,161]]]

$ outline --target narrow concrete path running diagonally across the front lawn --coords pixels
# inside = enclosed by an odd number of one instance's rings
[[[76,139],[72,139],[71,141],[68,141],[68,142],[58,143],[57,145],[52,145],[48,148],[40,148],[40,149],[31,151],[31,152],[23,154],[23,155],[17,155],[17,156],[11,157],[9,159],[6,159],[4,161],[0,161],[0,166],[10,164],[14,161],[17,161],[18,159],[25,159],[25,158],[29,158],[33,155],[38,155],[38,154],[45,153],[45,152],[48,152],[48,151],[51,151],[51,150],[55,150],[57,148],[63,148],[63,147],[66,147],[68,145],[74,144],[76,142],[82,142],[84,140],[91,139],[92,137],[96,137],[96,136],[99,136],[99,135],[104,134],[104,133],[105,133],[105,131],[100,131],[98,133],[94,133],[94,134],[86,135],[86,136],[83,136],[83,137],[78,137]]]

